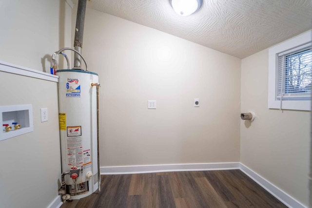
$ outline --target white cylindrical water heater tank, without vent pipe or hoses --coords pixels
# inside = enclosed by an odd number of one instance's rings
[[[98,74],[58,70],[59,129],[66,192],[80,199],[98,189],[97,89]]]

